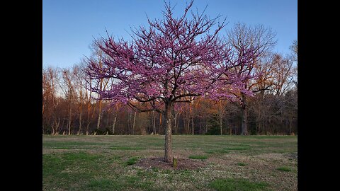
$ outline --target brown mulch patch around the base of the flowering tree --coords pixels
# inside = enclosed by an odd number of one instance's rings
[[[196,170],[207,165],[207,162],[203,160],[195,160],[191,158],[178,158],[177,159],[177,170]],[[164,158],[149,157],[142,158],[140,161],[135,163],[135,166],[142,168],[160,168],[163,170],[175,170],[172,167],[172,163],[164,162]]]

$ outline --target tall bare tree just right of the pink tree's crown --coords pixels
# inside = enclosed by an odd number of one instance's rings
[[[255,25],[254,27],[248,26],[243,23],[236,23],[232,30],[227,32],[228,42],[230,49],[233,52],[233,59],[240,60],[244,59],[244,52],[246,50],[252,50],[255,52],[253,57],[247,62],[251,64],[235,66],[234,71],[239,76],[257,76],[255,74],[255,68],[264,57],[268,56],[271,49],[276,45],[276,34],[271,28],[265,28],[263,25]],[[236,61],[235,61],[236,62]],[[244,88],[251,91],[252,87],[255,86],[254,81],[251,79],[245,79],[243,81]],[[264,91],[268,87],[257,89],[255,92]],[[245,93],[235,93],[235,96],[239,98],[239,108],[242,110],[242,134],[247,135],[248,132],[248,113]]]

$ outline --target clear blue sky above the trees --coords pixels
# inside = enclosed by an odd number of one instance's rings
[[[186,1],[170,3],[183,13]],[[236,22],[271,28],[278,40],[275,52],[290,53],[297,40],[297,0],[195,0],[193,8],[203,11],[207,4],[208,16],[227,16],[226,30]],[[91,54],[89,45],[94,37],[105,37],[106,29],[128,40],[130,27],[147,25],[147,16],[162,18],[162,10],[163,0],[43,0],[42,66],[73,66]]]

